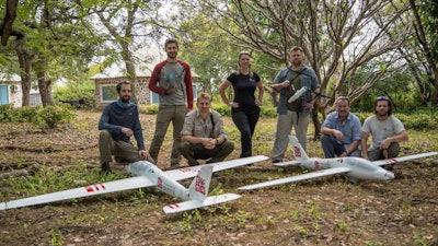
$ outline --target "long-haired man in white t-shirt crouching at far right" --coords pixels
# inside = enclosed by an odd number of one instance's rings
[[[362,157],[370,161],[396,157],[400,142],[407,141],[403,124],[392,116],[392,105],[388,96],[378,96],[374,102],[374,115],[364,121],[361,136]],[[371,145],[367,148],[368,137]]]

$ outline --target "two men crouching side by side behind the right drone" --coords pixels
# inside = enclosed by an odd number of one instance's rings
[[[376,98],[374,115],[365,119],[364,126],[349,112],[348,97],[338,96],[335,105],[336,110],[330,113],[321,126],[321,145],[326,159],[356,156],[377,161],[397,156],[400,142],[407,141],[408,137],[403,124],[392,115],[388,96]]]

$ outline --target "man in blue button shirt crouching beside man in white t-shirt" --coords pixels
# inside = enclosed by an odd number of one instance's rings
[[[321,144],[326,159],[336,156],[360,157],[358,149],[361,140],[361,125],[357,116],[349,112],[346,96],[336,99],[336,110],[327,115],[321,126]]]

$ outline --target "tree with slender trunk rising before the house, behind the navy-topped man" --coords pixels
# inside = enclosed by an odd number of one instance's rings
[[[136,65],[139,60],[147,58],[136,57],[135,52],[151,43],[160,39],[161,30],[154,28],[158,25],[160,15],[158,13],[162,3],[160,1],[105,0],[90,5],[93,13],[97,15],[100,24],[105,31],[100,34],[107,37],[108,50],[113,54],[120,54],[125,63],[126,77],[137,89]],[[117,59],[117,56],[114,58]],[[114,60],[112,59],[112,60]],[[134,101],[136,96],[134,96]],[[145,103],[145,102],[143,102]]]

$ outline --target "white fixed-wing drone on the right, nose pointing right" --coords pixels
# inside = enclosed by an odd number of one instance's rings
[[[351,183],[356,183],[359,179],[387,180],[394,178],[394,174],[390,171],[382,168],[381,166],[438,154],[438,152],[428,152],[423,154],[406,155],[402,157],[387,159],[373,162],[361,157],[310,159],[308,157],[304,149],[302,149],[301,144],[295,136],[289,136],[289,140],[292,144],[293,155],[296,160],[290,162],[276,163],[275,165],[299,165],[309,169],[315,169],[315,172],[243,186],[239,187],[238,189],[258,189],[334,174],[346,174],[349,181]]]

